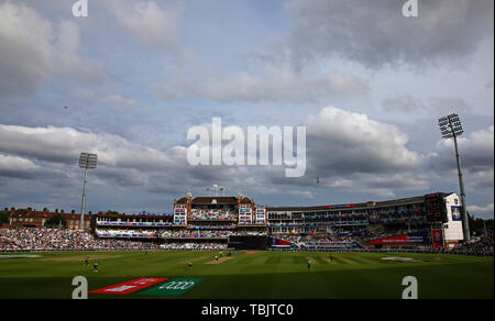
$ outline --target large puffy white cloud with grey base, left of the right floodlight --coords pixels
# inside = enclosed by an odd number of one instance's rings
[[[397,126],[334,107],[309,115],[301,125],[308,135],[307,175],[290,181],[267,173],[273,182],[375,197],[429,189],[428,175],[420,170],[424,156],[408,150],[408,136]]]

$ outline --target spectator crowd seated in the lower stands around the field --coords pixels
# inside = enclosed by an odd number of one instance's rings
[[[105,234],[103,233],[109,233]],[[405,232],[405,231],[404,231]],[[418,231],[415,231],[418,232]],[[113,235],[110,235],[112,234]],[[118,240],[113,239],[116,234],[151,235],[162,239],[184,239],[185,242],[172,241],[170,243],[138,241],[138,240]],[[375,237],[387,237],[399,233],[319,233],[317,235],[277,235],[278,239],[295,243],[304,250],[331,250],[331,248],[353,248],[360,244],[366,243]],[[188,239],[221,239],[229,235],[266,235],[263,231],[201,231],[201,230],[97,230],[97,235],[106,237],[95,237],[82,231],[63,230],[63,229],[0,229],[0,252],[6,251],[98,251],[98,250],[227,250],[227,243],[215,242],[190,242]],[[166,241],[166,240],[164,240]],[[162,241],[163,242],[163,241]],[[395,250],[400,250],[394,247]],[[429,251],[430,245],[416,245],[415,250]],[[405,250],[410,250],[407,247]],[[471,242],[464,242],[447,252],[461,252],[470,254],[493,255],[494,239],[493,234],[483,237],[475,237]]]

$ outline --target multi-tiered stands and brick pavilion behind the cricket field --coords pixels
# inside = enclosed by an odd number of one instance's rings
[[[241,193],[196,198],[187,193],[174,200],[169,214],[90,213],[84,229],[95,240],[138,242],[133,246],[157,250],[455,248],[464,240],[461,206],[455,193],[444,192],[317,207],[262,207]],[[67,230],[80,230],[75,211],[6,211],[9,229],[40,229],[48,218],[62,214]]]

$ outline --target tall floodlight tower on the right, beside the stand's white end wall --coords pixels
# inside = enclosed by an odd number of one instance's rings
[[[459,155],[458,148],[458,136],[461,136],[464,133],[462,129],[461,121],[457,113],[449,114],[447,117],[442,117],[438,120],[438,125],[440,128],[440,132],[442,133],[442,137],[446,140],[453,139],[455,146],[455,159],[458,162],[458,173],[459,173],[459,185],[461,188],[461,202],[462,202],[462,222],[464,228],[464,237],[465,241],[471,240],[470,235],[470,223],[466,214],[466,206],[465,206],[465,192],[464,192],[464,182],[462,181],[462,171],[461,171],[461,156]]]

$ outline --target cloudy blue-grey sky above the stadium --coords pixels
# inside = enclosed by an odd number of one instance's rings
[[[494,213],[494,2],[0,0],[0,207],[172,212],[213,184],[272,206],[459,192]],[[64,108],[68,107],[68,108]],[[306,126],[306,175],[190,166],[188,129]],[[320,181],[317,182],[317,177]]]

